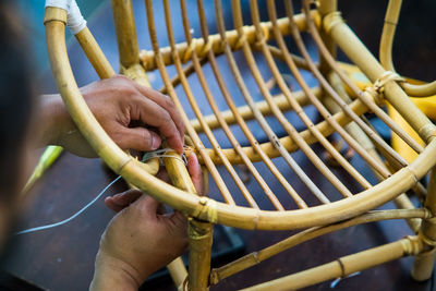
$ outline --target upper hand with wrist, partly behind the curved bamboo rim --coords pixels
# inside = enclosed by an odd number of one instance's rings
[[[172,149],[183,153],[184,124],[169,97],[125,76],[92,83],[81,93],[97,121],[122,149],[157,149],[160,134]],[[59,95],[41,96],[41,111],[40,145],[60,145],[77,156],[97,157]]]

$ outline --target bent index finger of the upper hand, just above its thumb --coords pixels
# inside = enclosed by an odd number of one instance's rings
[[[131,101],[132,119],[157,128],[159,133],[166,137],[168,146],[182,154],[183,138],[170,113],[150,99],[132,98]]]

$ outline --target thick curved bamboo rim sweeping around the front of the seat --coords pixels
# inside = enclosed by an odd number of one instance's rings
[[[287,230],[308,228],[348,219],[373,209],[409,190],[436,162],[436,141],[408,167],[378,185],[353,197],[306,209],[267,211],[230,206],[206,197],[187,195],[149,174],[143,163],[129,157],[106,134],[83,99],[66,54],[63,10],[46,10],[46,32],[50,64],[57,86],[72,119],[96,153],[126,181],[184,214],[243,229]]]

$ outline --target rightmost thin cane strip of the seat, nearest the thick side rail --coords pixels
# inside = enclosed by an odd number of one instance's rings
[[[307,12],[307,8],[303,5],[303,11]],[[337,65],[336,60],[332,58],[331,53],[328,51],[326,46],[324,45],[318,31],[313,23],[313,21],[307,19],[308,32],[311,33],[315,44],[318,47],[319,52],[323,56],[330,68],[340,76],[340,78],[349,86],[352,92],[358,96],[364,104],[373,111],[383,122],[385,122],[402,141],[404,141],[411,148],[413,148],[416,153],[422,153],[423,147],[416,143],[404,130],[402,130],[382,108],[379,108],[374,101],[371,100],[368,95],[362,92],[358,86],[352,82],[352,80]]]

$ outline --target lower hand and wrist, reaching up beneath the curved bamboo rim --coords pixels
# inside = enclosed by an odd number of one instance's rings
[[[195,154],[187,158],[187,170],[199,193],[202,169]],[[158,175],[168,179],[165,171]],[[90,290],[137,290],[149,275],[185,251],[186,218],[181,213],[164,214],[157,201],[137,190],[107,197],[105,203],[118,214],[101,237]]]

